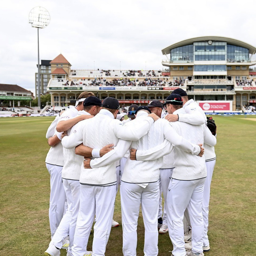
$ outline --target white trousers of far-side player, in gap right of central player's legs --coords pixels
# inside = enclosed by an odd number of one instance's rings
[[[160,169],[160,178],[159,178],[159,189],[160,189],[160,197],[159,197],[159,210],[158,210],[158,218],[162,217],[163,215],[163,224],[167,225],[167,218],[166,218],[166,197],[167,191],[169,187],[170,180],[172,178],[173,169]],[[162,192],[163,198],[165,202],[162,207]]]

